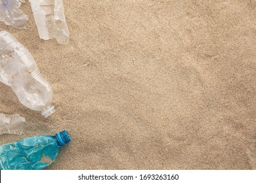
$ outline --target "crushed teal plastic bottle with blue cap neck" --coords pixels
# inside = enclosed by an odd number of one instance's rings
[[[70,142],[68,131],[30,137],[0,146],[1,170],[41,170],[51,165],[61,146]]]

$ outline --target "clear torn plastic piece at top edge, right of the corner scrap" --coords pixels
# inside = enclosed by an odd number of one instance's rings
[[[39,37],[56,38],[59,44],[67,44],[70,38],[62,0],[30,0]]]

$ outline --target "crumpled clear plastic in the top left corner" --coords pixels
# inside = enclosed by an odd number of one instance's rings
[[[24,0],[0,0],[0,21],[17,29],[25,29],[28,16],[20,10]]]

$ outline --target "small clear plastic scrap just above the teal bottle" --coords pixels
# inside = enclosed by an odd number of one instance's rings
[[[20,135],[25,127],[28,126],[25,118],[18,114],[0,114],[0,135],[3,133],[13,133]]]

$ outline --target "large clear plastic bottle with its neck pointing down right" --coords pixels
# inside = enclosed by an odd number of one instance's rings
[[[41,111],[45,118],[53,114],[50,84],[30,52],[7,31],[0,31],[0,82],[11,86],[24,106]]]

